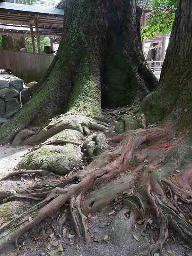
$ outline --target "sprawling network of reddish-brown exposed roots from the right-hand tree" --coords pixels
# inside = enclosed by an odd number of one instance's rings
[[[16,219],[6,223],[3,228],[0,228],[0,249],[6,246],[8,242],[17,241],[24,232],[30,230],[45,218],[52,216],[54,211],[57,211],[68,202],[70,202],[70,213],[76,233],[78,237],[84,237],[85,241],[88,242],[89,239],[85,224],[86,217],[84,214],[95,212],[101,207],[111,204],[115,197],[120,196],[123,191],[131,188],[132,185],[136,183],[139,183],[141,187],[139,196],[133,195],[126,197],[126,199],[128,199],[126,204],[127,207],[130,208],[130,211],[128,211],[127,217],[122,213],[122,218],[125,218],[126,221],[126,218],[129,217],[130,225],[127,226],[128,229],[131,228],[135,220],[144,218],[145,206],[141,199],[143,198],[142,193],[145,191],[148,203],[154,209],[156,223],[160,230],[159,239],[149,249],[150,255],[153,255],[158,250],[161,256],[164,255],[163,244],[168,236],[168,224],[171,224],[172,227],[180,232],[181,236],[190,243],[192,238],[192,225],[180,213],[175,199],[177,197],[183,200],[183,202],[191,203],[192,193],[190,190],[182,187],[183,184],[187,184],[187,186],[191,184],[191,179],[189,179],[189,177],[191,177],[190,168],[181,176],[180,184],[175,185],[173,183],[174,180],[166,178],[166,173],[159,172],[158,166],[160,165],[153,163],[153,157],[149,158],[151,162],[146,168],[143,159],[146,156],[147,150],[143,149],[143,155],[138,158],[141,163],[138,164],[133,171],[129,172],[129,174],[125,171],[132,166],[134,153],[137,152],[142,144],[154,144],[156,140],[168,136],[169,131],[170,127],[163,127],[125,132],[121,136],[116,136],[112,139],[114,141],[120,141],[116,148],[101,153],[83,170],[58,180],[60,182],[56,185],[49,186],[39,184],[34,188],[20,191],[20,193],[11,192],[11,194],[8,194],[9,192],[3,192],[4,195],[2,194],[1,196],[3,202],[12,200],[12,198],[43,199],[43,201],[21,214]],[[157,150],[161,152],[163,156],[165,152],[169,152],[171,149],[157,147]],[[161,162],[162,160],[159,160],[159,163]],[[163,170],[163,166],[161,166],[161,169]],[[123,177],[109,182],[104,187],[102,186],[104,181],[113,179],[122,172],[125,172]],[[186,179],[188,179],[188,182]],[[69,185],[75,180],[81,181],[78,184]],[[100,189],[92,192],[90,198],[85,200],[83,214],[80,206],[83,195],[86,191],[92,188],[95,189],[98,183],[101,184]],[[66,185],[69,186],[65,187]],[[165,192],[164,186],[169,187],[167,191],[171,191],[171,199],[167,195],[167,192]],[[28,220],[29,217],[32,218],[30,218],[30,221]],[[19,226],[18,221],[20,220],[22,220],[22,225]],[[64,212],[59,221],[59,226],[57,227],[57,235],[61,235],[61,229],[66,220],[67,215],[66,212]],[[113,233],[111,233],[110,236],[112,238]],[[137,255],[139,254],[137,253]]]

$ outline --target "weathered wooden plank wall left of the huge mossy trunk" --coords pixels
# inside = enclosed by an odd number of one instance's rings
[[[0,68],[11,69],[13,75],[25,83],[39,81],[52,63],[54,56],[31,52],[14,52],[0,49]]]

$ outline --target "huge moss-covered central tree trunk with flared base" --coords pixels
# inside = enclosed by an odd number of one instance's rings
[[[119,106],[142,100],[156,86],[141,50],[135,0],[68,0],[65,13],[57,55],[29,91],[32,99],[1,131],[1,142],[59,113],[100,114],[101,89],[103,106]]]

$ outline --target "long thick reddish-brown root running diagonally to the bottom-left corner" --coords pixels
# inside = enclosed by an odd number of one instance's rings
[[[39,224],[45,218],[51,216],[54,211],[58,210],[62,205],[71,201],[71,213],[73,215],[73,221],[77,224],[79,219],[83,225],[76,225],[76,232],[80,236],[84,236],[85,240],[88,240],[86,233],[86,226],[84,223],[84,217],[80,209],[80,196],[87,191],[92,189],[97,183],[103,182],[107,179],[112,179],[116,175],[129,168],[132,163],[133,152],[143,143],[157,140],[164,137],[167,134],[166,128],[155,128],[146,130],[137,130],[126,132],[122,137],[120,145],[113,150],[108,150],[102,153],[96,158],[91,164],[86,166],[82,171],[77,172],[72,178],[63,180],[62,182],[69,182],[73,179],[80,179],[78,184],[72,184],[67,188],[52,187],[45,188],[44,192],[42,189],[34,189],[33,195],[41,194],[42,198],[45,198],[40,203],[36,204],[36,208],[24,212],[16,219],[6,223],[4,227],[0,228],[0,250],[8,242],[15,242],[17,239],[26,231],[30,230],[35,225]],[[61,182],[61,183],[62,183]],[[123,190],[124,188],[122,188]],[[27,192],[27,191],[25,191]],[[32,191],[31,191],[32,192]],[[116,195],[114,194],[116,197]],[[75,204],[74,204],[75,201]],[[73,203],[73,204],[72,204]],[[75,208],[74,208],[75,206]],[[100,205],[102,206],[102,205]],[[32,220],[29,221],[29,214]],[[23,220],[23,216],[25,217]],[[78,216],[78,217],[77,217]],[[22,220],[22,225],[19,225],[18,220]],[[19,225],[19,226],[18,226]],[[80,227],[84,227],[84,231],[80,231]]]

